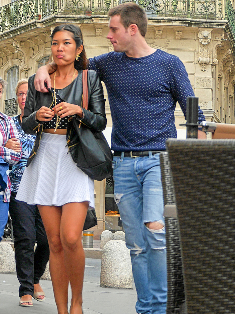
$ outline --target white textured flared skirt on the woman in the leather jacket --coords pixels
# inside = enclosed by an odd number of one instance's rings
[[[62,206],[89,202],[95,208],[94,180],[72,160],[66,135],[42,133],[36,156],[25,169],[16,199],[28,204]]]

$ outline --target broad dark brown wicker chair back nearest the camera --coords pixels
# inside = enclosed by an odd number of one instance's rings
[[[233,314],[235,140],[167,140],[188,314]]]

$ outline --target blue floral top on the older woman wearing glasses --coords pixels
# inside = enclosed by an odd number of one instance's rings
[[[24,130],[22,129],[21,121],[20,121],[20,115],[14,116],[13,120],[15,122],[17,129],[18,129],[20,139],[22,142],[22,157],[16,165],[13,165],[12,171],[10,173],[11,191],[17,192],[19,184],[20,184],[20,180],[21,180],[23,173],[24,173],[24,170],[26,168],[29,154],[30,154],[31,150],[33,149],[36,135],[27,134],[24,132]]]

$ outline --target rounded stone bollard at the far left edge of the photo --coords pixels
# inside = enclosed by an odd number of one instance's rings
[[[0,243],[0,273],[15,274],[15,254],[9,243]]]

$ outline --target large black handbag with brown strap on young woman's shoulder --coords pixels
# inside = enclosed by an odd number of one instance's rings
[[[83,108],[87,109],[87,70],[83,70]],[[112,173],[112,151],[102,132],[72,119],[69,151],[76,165],[91,179],[101,181]]]

